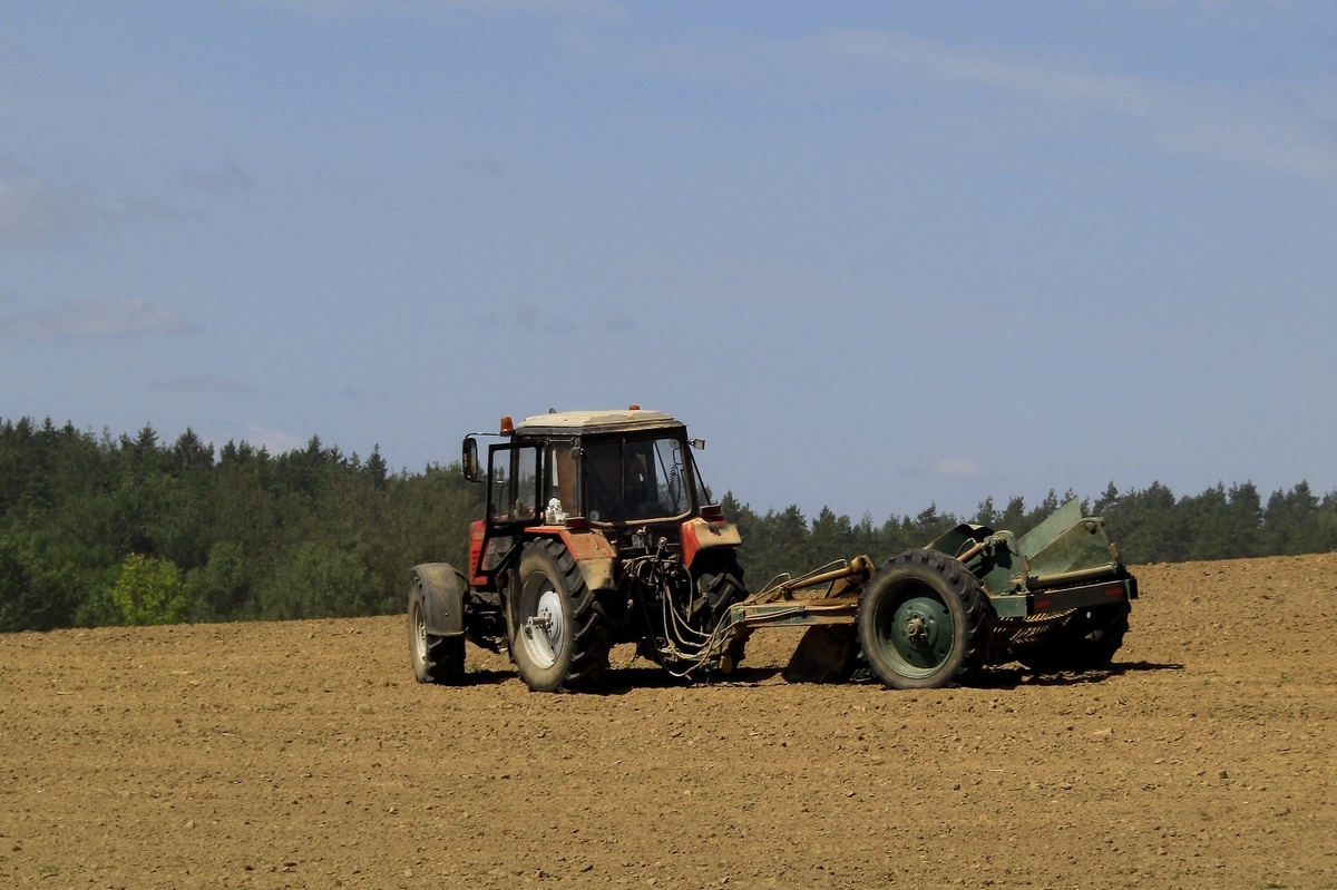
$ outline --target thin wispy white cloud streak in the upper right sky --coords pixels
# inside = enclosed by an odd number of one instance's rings
[[[733,87],[765,84],[786,100],[876,94],[892,127],[985,150],[1094,136],[1337,182],[1325,84],[1186,84],[873,29],[786,40],[709,35],[642,56],[639,67]]]

